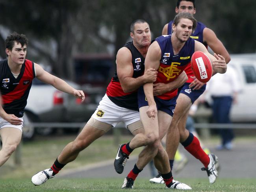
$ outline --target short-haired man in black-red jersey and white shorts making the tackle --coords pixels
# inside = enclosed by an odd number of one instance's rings
[[[144,70],[145,56],[151,42],[148,23],[141,19],[135,20],[130,26],[130,37],[132,41],[117,52],[117,70],[95,113],[78,137],[65,146],[52,166],[33,175],[34,185],[41,185],[55,177],[67,163],[76,159],[80,151],[119,122],[123,122],[133,135],[144,132],[138,112],[137,89],[145,83],[156,81],[157,76],[154,68]],[[186,81],[185,78],[184,73],[170,85],[170,89],[180,87]]]

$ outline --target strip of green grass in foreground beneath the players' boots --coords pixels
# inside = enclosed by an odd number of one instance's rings
[[[41,186],[33,186],[30,179],[1,179],[1,192],[124,192],[123,179],[51,179]],[[207,179],[182,179],[195,192],[255,192],[255,179],[221,179],[210,185]],[[129,190],[130,191],[130,190]],[[137,179],[136,192],[168,191],[164,185]]]

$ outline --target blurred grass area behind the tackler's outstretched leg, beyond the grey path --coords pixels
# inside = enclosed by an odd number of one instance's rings
[[[11,158],[0,167],[0,179],[12,178],[30,178],[40,170],[52,166],[63,148],[76,136],[72,137],[45,137],[44,139],[35,139],[32,142],[24,142],[21,145],[21,165],[14,164],[13,154]],[[122,136],[119,143],[130,141],[131,136]],[[117,144],[114,144],[113,137],[104,136],[93,142],[88,148],[81,151],[77,159],[65,166],[65,170],[85,166],[89,163],[113,159],[117,152]],[[137,155],[140,149],[133,152]],[[4,174],[2,174],[4,173]],[[1,191],[1,190],[0,190]]]

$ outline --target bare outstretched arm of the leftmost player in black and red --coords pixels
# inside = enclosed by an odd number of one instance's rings
[[[35,72],[36,72],[36,78],[40,81],[43,81],[45,83],[48,83],[55,87],[58,90],[61,90],[63,92],[69,93],[74,95],[76,98],[82,99],[82,102],[85,98],[84,93],[82,90],[76,90],[73,87],[71,87],[67,82],[63,81],[62,79],[46,72],[41,66],[35,63]]]

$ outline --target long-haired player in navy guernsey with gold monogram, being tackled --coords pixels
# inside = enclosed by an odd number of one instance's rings
[[[195,51],[202,51],[208,55],[214,73],[226,72],[224,57],[217,54],[214,54],[214,57],[202,43],[190,38],[192,31],[195,30],[196,23],[197,21],[190,13],[179,13],[174,18],[173,35],[160,36],[149,46],[145,58],[145,70],[148,70],[148,68],[158,69],[158,78],[154,83],[169,83],[178,78],[184,72],[184,68],[190,62]],[[161,173],[165,185],[168,188],[191,189],[186,184],[174,181],[168,155],[166,151],[159,149],[162,148],[161,139],[171,124],[178,90],[173,89],[154,96],[153,83],[146,83],[143,85],[143,89],[138,90],[138,103],[145,134],[137,134],[130,142],[121,145],[119,151],[122,150],[122,153],[125,153],[128,157],[135,148],[143,145],[147,145],[147,147],[139,155],[139,159],[134,166],[134,172],[128,175],[126,180],[129,182],[130,179],[135,180],[138,173],[151,160],[150,158],[157,155],[154,164]],[[178,135],[176,136],[179,138]],[[118,152],[117,155],[123,157],[122,153]],[[206,167],[211,164],[208,156],[205,159],[205,164]],[[211,174],[214,174],[215,169],[210,171]]]

